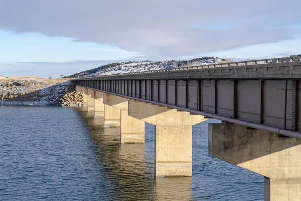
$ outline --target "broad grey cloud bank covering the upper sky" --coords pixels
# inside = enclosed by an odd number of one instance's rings
[[[0,29],[108,44],[153,59],[294,38],[301,6],[298,0],[1,3]]]

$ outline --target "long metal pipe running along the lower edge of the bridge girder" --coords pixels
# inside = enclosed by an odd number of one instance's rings
[[[85,87],[85,86],[83,86],[83,87]],[[86,87],[86,88],[89,88],[89,87]],[[90,89],[97,90],[97,89],[94,89],[94,88],[90,88]],[[101,91],[101,92],[104,92],[104,93],[110,93],[110,94],[113,94],[113,95],[122,96],[122,97],[129,98],[129,99],[140,100],[140,101],[145,102],[145,103],[156,104],[156,105],[160,105],[160,106],[164,106],[164,107],[168,107],[168,108],[181,110],[181,111],[188,112],[188,113],[193,113],[193,114],[196,114],[196,115],[202,115],[202,116],[209,117],[209,118],[212,118],[212,119],[217,119],[217,120],[221,120],[221,121],[232,123],[232,124],[238,124],[238,125],[242,125],[242,126],[245,126],[245,127],[250,127],[250,128],[253,128],[253,129],[265,130],[265,131],[268,131],[268,132],[277,133],[278,135],[284,135],[284,136],[287,136],[287,137],[301,139],[301,133],[298,133],[298,132],[295,132],[295,131],[288,131],[288,130],[285,130],[285,129],[279,129],[279,128],[272,127],[272,126],[256,124],[256,123],[253,123],[253,122],[247,122],[247,121],[242,121],[242,120],[238,120],[238,119],[231,119],[231,118],[228,118],[228,117],[214,115],[214,114],[203,112],[203,111],[197,111],[197,110],[192,110],[192,109],[189,109],[189,108],[183,108],[183,107],[180,107],[180,106],[175,106],[175,105],[170,105],[170,104],[165,104],[165,103],[159,103],[159,102],[155,102],[153,100],[146,100],[146,99],[132,97],[132,96],[128,96],[128,95],[122,95],[122,94],[119,94],[119,93],[107,92],[107,91],[104,91],[104,90],[97,90],[97,91]]]

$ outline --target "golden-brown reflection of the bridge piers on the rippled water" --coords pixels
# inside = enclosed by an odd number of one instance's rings
[[[103,118],[94,118],[93,113],[85,112],[82,108],[76,110],[95,144],[99,166],[105,169],[111,199],[191,199],[191,177],[155,180],[155,162],[152,156],[155,153],[154,139],[146,140],[146,148],[144,144],[120,144],[120,128],[104,128]],[[148,135],[152,133],[151,130],[146,126]]]

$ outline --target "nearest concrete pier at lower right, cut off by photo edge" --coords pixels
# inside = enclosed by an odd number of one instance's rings
[[[264,175],[264,200],[301,198],[301,140],[244,126],[209,124],[209,155]]]

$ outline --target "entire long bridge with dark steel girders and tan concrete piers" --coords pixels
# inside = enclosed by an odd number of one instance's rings
[[[121,143],[144,143],[144,122],[156,126],[156,176],[191,176],[192,126],[214,118],[209,155],[263,175],[265,200],[301,200],[300,79],[296,57],[75,83],[88,111],[120,127]]]

